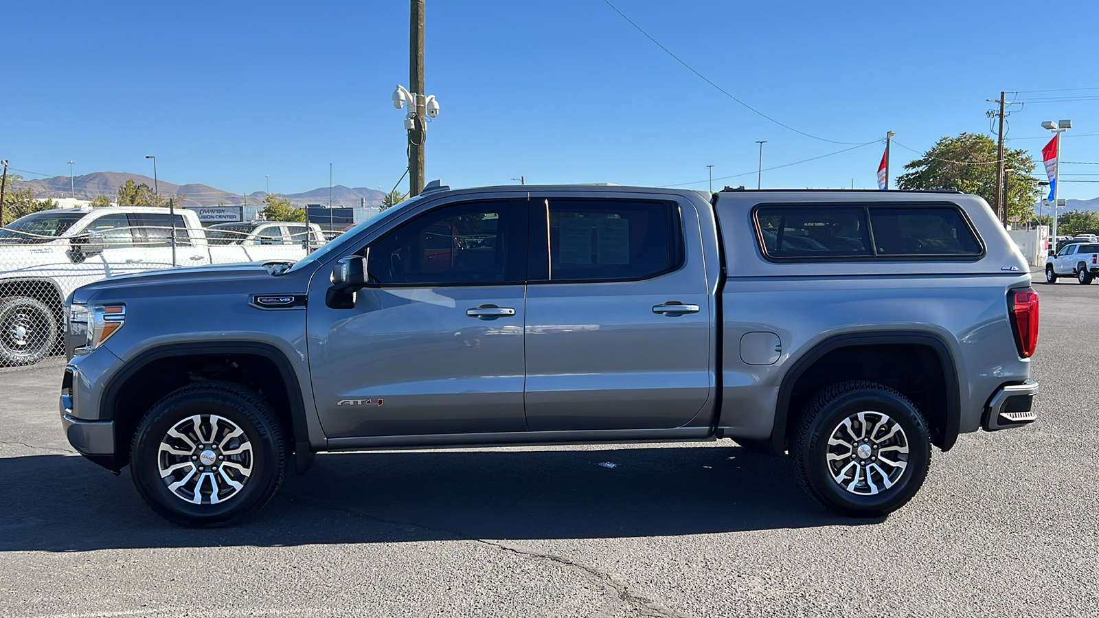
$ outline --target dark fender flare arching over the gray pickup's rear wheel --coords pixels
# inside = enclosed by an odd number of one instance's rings
[[[778,388],[778,399],[775,404],[775,424],[770,432],[771,449],[776,453],[786,451],[786,431],[790,411],[790,397],[793,394],[793,385],[798,379],[818,361],[830,352],[842,347],[855,345],[884,345],[884,344],[908,344],[926,345],[939,356],[942,364],[943,377],[946,383],[946,426],[943,428],[943,443],[941,450],[948,451],[957,441],[958,428],[962,424],[962,391],[958,383],[957,363],[954,362],[954,354],[946,342],[937,334],[924,331],[876,331],[844,333],[830,336],[814,345],[808,353],[803,354],[786,375]],[[796,411],[795,411],[796,413]]]

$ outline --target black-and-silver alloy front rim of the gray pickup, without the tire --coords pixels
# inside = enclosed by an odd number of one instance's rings
[[[241,494],[252,478],[252,442],[236,423],[217,415],[195,415],[160,439],[160,478],[179,499],[215,505]]]

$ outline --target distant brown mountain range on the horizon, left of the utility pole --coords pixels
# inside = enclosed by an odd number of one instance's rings
[[[232,194],[222,189],[217,189],[209,185],[176,185],[167,180],[157,180],[141,174],[126,174],[122,172],[93,172],[82,176],[74,176],[71,183],[68,176],[54,176],[53,178],[38,178],[34,180],[23,180],[21,185],[30,187],[36,198],[67,198],[69,191],[77,199],[95,199],[97,196],[107,196],[112,201],[118,195],[119,187],[127,179],[133,179],[136,184],[146,184],[149,187],[156,186],[164,196],[187,196],[186,206],[217,206],[219,203],[240,206],[243,203],[260,205],[267,196],[266,191],[255,191],[247,195]],[[306,206],[308,203],[329,203],[329,187],[319,187],[311,191],[301,194],[276,194],[279,197],[289,199],[295,206]],[[366,187],[345,187],[336,185],[332,187],[333,206],[358,206],[365,199],[367,206],[381,203],[381,198],[386,194],[377,189]]]

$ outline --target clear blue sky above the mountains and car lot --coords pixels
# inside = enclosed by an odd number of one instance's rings
[[[745,103],[864,143],[895,131],[892,176],[944,135],[988,132],[1018,90],[1012,147],[1072,119],[1064,161],[1099,162],[1099,3],[611,0]],[[235,192],[335,184],[389,190],[406,166],[408,4],[9,3],[0,157],[67,175],[135,172]],[[1056,43],[1054,43],[1056,42]],[[875,187],[882,145],[784,129],[715,90],[603,0],[426,0],[428,178],[452,186],[618,183]],[[1001,62],[1002,58],[1002,62]],[[1048,89],[1078,89],[1034,92]],[[1011,95],[1009,95],[1011,97]],[[1063,97],[1092,100],[1042,101]],[[1064,165],[1063,174],[1099,165]],[[24,174],[25,177],[34,177]],[[1096,176],[1064,176],[1068,179]],[[407,186],[407,183],[402,184]],[[1099,196],[1063,183],[1061,197]]]

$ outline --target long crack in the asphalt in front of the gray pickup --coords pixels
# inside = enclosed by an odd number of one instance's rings
[[[354,508],[349,508],[349,507],[342,507],[342,506],[332,505],[332,504],[328,504],[328,503],[322,503],[320,500],[314,500],[314,499],[306,498],[306,497],[302,497],[302,496],[296,496],[293,494],[290,494],[287,497],[291,501],[296,500],[296,501],[300,501],[302,504],[307,504],[307,505],[310,505],[310,506],[313,506],[313,507],[318,507],[318,508],[324,508],[324,509],[329,509],[329,510],[335,510],[335,511],[340,511],[340,512],[346,512],[348,515],[352,515],[352,516],[355,516],[355,517],[362,517],[362,518],[365,518],[365,519],[370,519],[370,520],[377,521],[379,523],[388,523],[388,525],[391,525],[391,526],[409,526],[409,527],[412,527],[412,528],[419,528],[421,530],[429,530],[429,531],[432,531],[432,532],[446,532],[446,533],[453,536],[453,540],[455,540],[455,541],[471,541],[471,542],[481,543],[481,544],[485,544],[485,545],[489,545],[489,547],[496,548],[496,549],[498,549],[500,551],[506,551],[506,552],[514,553],[517,555],[521,555],[521,556],[524,556],[524,558],[534,558],[534,559],[546,560],[546,561],[553,563],[553,564],[579,571],[585,576],[587,576],[589,580],[595,581],[596,583],[600,584],[602,586],[602,588],[611,597],[618,599],[619,603],[625,604],[626,606],[629,606],[632,609],[636,610],[639,613],[639,616],[644,616],[644,617],[648,617],[648,618],[685,618],[686,617],[685,614],[679,614],[679,613],[673,611],[673,610],[670,610],[670,609],[668,609],[668,608],[666,608],[664,606],[659,606],[659,605],[657,605],[656,602],[654,602],[652,599],[648,599],[648,598],[645,598],[645,597],[642,597],[642,596],[637,596],[637,595],[634,595],[634,594],[630,593],[629,587],[625,584],[615,582],[614,578],[611,577],[611,575],[609,573],[604,573],[602,571],[599,571],[598,569],[595,569],[595,567],[591,567],[591,566],[587,566],[587,565],[578,563],[578,562],[574,562],[571,560],[568,560],[567,558],[563,558],[563,556],[551,554],[551,553],[541,553],[541,552],[535,552],[535,551],[522,550],[522,549],[519,549],[519,548],[506,545],[506,544],[503,544],[502,541],[489,540],[489,539],[476,539],[476,538],[469,537],[467,534],[464,534],[459,530],[451,530],[448,528],[434,528],[434,527],[431,527],[431,526],[425,526],[423,523],[415,523],[415,522],[412,522],[412,521],[398,521],[398,520],[392,520],[392,519],[384,519],[384,518],[377,517],[375,515],[370,515],[370,514],[364,512],[364,511],[358,510],[358,509],[354,509]],[[608,610],[608,609],[611,609],[611,607],[607,607],[607,606],[601,607],[597,611],[595,611],[593,614],[589,614],[587,618],[598,618],[599,616],[606,616],[607,615],[606,610]]]

